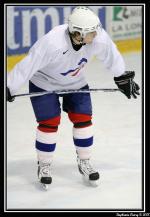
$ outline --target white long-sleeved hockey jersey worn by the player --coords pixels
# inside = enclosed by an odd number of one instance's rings
[[[124,60],[104,29],[91,44],[75,51],[68,24],[53,28],[41,37],[28,55],[8,73],[7,86],[12,95],[27,81],[47,90],[79,89],[87,84],[85,64],[96,56],[114,76],[125,71]]]

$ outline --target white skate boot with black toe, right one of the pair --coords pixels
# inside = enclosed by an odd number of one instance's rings
[[[98,186],[98,180],[100,175],[95,171],[90,165],[89,159],[80,159],[77,157],[78,169],[79,172],[83,175],[84,179],[93,186]]]

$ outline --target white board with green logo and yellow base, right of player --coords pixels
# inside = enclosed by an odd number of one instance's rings
[[[105,19],[106,30],[122,53],[142,49],[141,6],[109,6]]]

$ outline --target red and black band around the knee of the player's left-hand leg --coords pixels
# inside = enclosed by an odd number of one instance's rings
[[[56,132],[60,124],[60,116],[38,122],[38,129],[43,132]]]

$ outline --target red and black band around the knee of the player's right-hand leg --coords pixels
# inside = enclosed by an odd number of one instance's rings
[[[69,112],[68,116],[75,128],[84,128],[92,125],[91,115]]]

